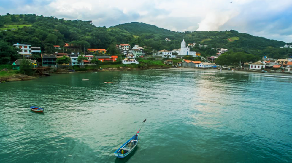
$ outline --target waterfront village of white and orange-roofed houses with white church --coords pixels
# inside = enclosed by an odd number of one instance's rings
[[[171,41],[170,39],[165,39]],[[139,65],[140,61],[156,60],[164,64],[164,66],[158,65],[156,68],[201,68],[201,69],[223,69],[234,71],[250,71],[261,73],[288,73],[292,74],[292,58],[273,59],[266,56],[262,57],[254,63],[244,63],[226,66],[216,65],[215,60],[220,57],[224,52],[228,52],[228,49],[218,48],[217,54],[210,57],[202,57],[201,53],[190,51],[193,46],[199,45],[200,48],[206,48],[201,44],[191,43],[186,44],[185,40],[181,42],[180,49],[173,49],[172,51],[160,50],[158,52],[153,51],[153,54],[146,55],[145,46],[134,45],[131,47],[129,44],[117,44],[115,47],[120,54],[109,55],[106,49],[88,48],[80,51],[80,47],[70,45],[66,43],[63,47],[54,45],[55,53],[46,54],[41,52],[40,47],[33,47],[26,44],[14,44],[15,48],[19,49],[19,54],[23,59],[18,59],[13,62],[13,70],[20,70],[20,65],[23,60],[27,60],[36,73],[39,75],[49,75],[59,71],[63,73],[87,71],[88,67],[92,67],[91,70],[118,70],[125,68],[126,70],[133,70]],[[288,45],[284,46],[289,48]],[[81,47],[82,49],[82,47]],[[214,50],[214,48],[212,49]],[[32,59],[32,55],[40,55],[39,59]],[[191,57],[192,59],[188,59]],[[195,58],[195,60],[194,60]],[[97,66],[99,65],[99,66]],[[106,68],[102,68],[100,65],[109,65]],[[111,65],[122,65],[119,67]],[[59,68],[62,68],[59,70]],[[155,67],[153,67],[155,68]],[[57,72],[58,73],[58,72]]]

